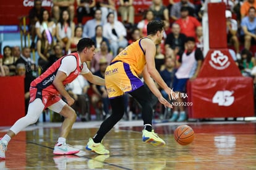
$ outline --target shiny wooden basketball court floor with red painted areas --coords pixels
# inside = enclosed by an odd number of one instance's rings
[[[142,121],[119,122],[103,140],[110,155],[96,155],[85,144],[100,122],[75,122],[67,143],[78,155],[54,156],[60,124],[31,125],[8,145],[0,169],[256,169],[255,122],[187,122],[195,140],[187,146],[174,141],[177,123],[154,124],[165,147],[142,143]],[[0,136],[9,127],[0,127]]]

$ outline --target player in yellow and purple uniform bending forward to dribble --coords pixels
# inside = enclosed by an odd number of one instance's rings
[[[152,114],[150,95],[148,94],[139,75],[143,75],[145,83],[158,98],[160,103],[168,108],[173,106],[163,98],[153,79],[170,95],[173,90],[164,83],[155,68],[156,45],[161,43],[164,32],[163,21],[153,20],[147,25],[148,36],[140,38],[119,53],[105,71],[106,90],[113,113],[100,126],[93,138],[89,139],[86,149],[98,154],[109,154],[101,140],[124,115],[124,93],[129,93],[142,106],[144,129],[142,140],[154,146],[165,145],[164,140],[152,130]],[[151,79],[151,77],[153,79]]]

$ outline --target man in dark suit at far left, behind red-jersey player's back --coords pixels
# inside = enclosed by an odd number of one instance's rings
[[[15,62],[15,65],[23,63],[26,66],[26,77],[36,77],[36,66],[35,62],[31,59],[30,48],[23,47],[20,58]]]

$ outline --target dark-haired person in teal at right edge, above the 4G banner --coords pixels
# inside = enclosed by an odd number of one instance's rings
[[[251,71],[256,66],[255,58],[253,57],[252,53],[248,49],[243,49],[241,51],[241,66],[242,66],[242,75],[244,76],[251,76]]]

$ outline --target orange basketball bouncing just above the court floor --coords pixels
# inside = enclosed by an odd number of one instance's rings
[[[189,125],[179,125],[174,130],[174,138],[180,145],[189,145],[194,137],[194,130]]]

